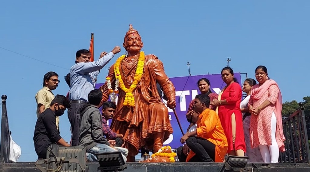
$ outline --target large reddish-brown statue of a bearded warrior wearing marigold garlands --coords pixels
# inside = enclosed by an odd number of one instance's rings
[[[168,98],[167,106],[171,109],[176,105],[175,87],[166,75],[162,62],[155,55],[144,56],[144,52],[140,51],[143,42],[132,25],[125,35],[123,46],[128,55],[121,56],[111,66],[108,74],[110,85],[106,82],[100,89],[103,92],[102,101],[108,100],[112,89],[119,92],[111,129],[124,135],[124,147],[129,150],[128,161],[133,161],[141,147],[153,149],[154,152],[160,150],[173,132],[168,109],[156,84],[160,84]],[[115,81],[119,83],[118,89],[115,88]]]

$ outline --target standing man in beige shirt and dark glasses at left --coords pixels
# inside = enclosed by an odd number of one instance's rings
[[[52,90],[55,90],[58,87],[58,74],[55,72],[47,72],[43,78],[43,88],[40,89],[35,98],[37,102],[37,117],[44,112],[48,107],[50,107],[52,100],[54,99],[54,94]],[[59,117],[56,117],[56,126],[58,127]]]

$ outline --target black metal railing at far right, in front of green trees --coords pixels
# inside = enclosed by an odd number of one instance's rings
[[[284,144],[286,151],[280,153],[279,162],[309,163],[309,142],[303,103],[300,110],[283,119],[283,132],[286,138]]]

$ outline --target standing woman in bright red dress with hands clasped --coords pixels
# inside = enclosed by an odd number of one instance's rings
[[[246,143],[240,110],[242,89],[237,79],[234,78],[232,68],[224,67],[221,74],[226,86],[220,92],[219,99],[213,100],[210,105],[218,107],[217,113],[228,141],[228,155],[243,157],[246,152]]]

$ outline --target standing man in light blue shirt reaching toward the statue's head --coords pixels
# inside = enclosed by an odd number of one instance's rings
[[[114,54],[121,51],[119,46],[110,53],[102,52],[97,61],[90,62],[91,52],[87,49],[77,51],[75,65],[70,69],[69,100],[71,107],[68,109],[68,118],[72,128],[72,146],[78,146],[80,109],[88,102],[88,93],[95,89],[95,80],[99,70],[113,58]]]

